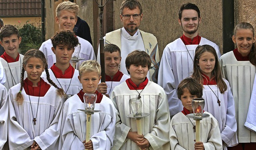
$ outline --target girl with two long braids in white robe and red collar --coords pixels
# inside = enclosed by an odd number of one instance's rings
[[[9,147],[11,150],[56,150],[64,92],[50,78],[47,80],[52,86],[40,78],[47,68],[41,51],[28,50],[22,65],[22,82],[9,90]],[[28,78],[24,80],[25,71]]]

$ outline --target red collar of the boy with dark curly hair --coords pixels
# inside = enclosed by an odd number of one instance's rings
[[[54,63],[50,69],[52,70],[56,78],[73,78],[75,69],[70,64],[68,69],[65,70],[64,74],[62,74],[62,71],[58,67],[56,67],[55,64],[56,63]]]

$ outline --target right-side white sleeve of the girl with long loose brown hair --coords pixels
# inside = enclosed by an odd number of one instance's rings
[[[236,136],[237,124],[236,124],[236,114],[235,114],[235,102],[233,98],[233,94],[231,92],[231,88],[229,82],[227,84],[227,92],[228,92],[228,104],[227,104],[227,112],[226,112],[226,123],[225,127],[220,133],[222,140],[228,146],[235,146],[238,144],[238,139]]]

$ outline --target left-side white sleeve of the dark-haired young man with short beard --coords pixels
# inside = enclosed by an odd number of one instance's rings
[[[160,67],[158,71],[158,84],[164,88],[167,95],[170,116],[174,116],[181,111],[181,101],[176,93],[175,78],[172,70],[172,59],[168,46],[164,49]]]

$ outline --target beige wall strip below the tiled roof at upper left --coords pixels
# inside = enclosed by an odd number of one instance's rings
[[[12,17],[12,18],[2,18],[4,24],[12,24],[16,26],[23,26],[27,21],[29,23],[35,23],[36,26],[41,26],[41,17]]]

